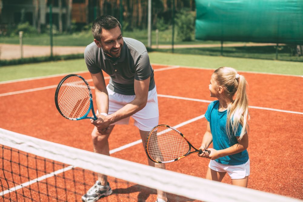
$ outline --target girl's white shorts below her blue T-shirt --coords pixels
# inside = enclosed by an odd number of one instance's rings
[[[249,159],[245,164],[227,165],[210,160],[208,167],[217,172],[227,172],[231,179],[243,179],[249,175]]]

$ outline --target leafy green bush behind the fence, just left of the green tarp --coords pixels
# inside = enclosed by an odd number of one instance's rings
[[[188,9],[182,9],[175,19],[177,28],[177,36],[181,41],[192,41],[192,35],[195,31],[195,14],[188,11]]]

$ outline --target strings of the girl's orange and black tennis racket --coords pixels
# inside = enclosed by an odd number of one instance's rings
[[[177,131],[164,126],[154,130],[148,140],[148,154],[156,161],[172,161],[189,150],[189,144]]]

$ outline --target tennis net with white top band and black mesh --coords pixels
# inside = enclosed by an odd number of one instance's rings
[[[299,201],[180,174],[44,141],[0,128],[0,198],[4,201],[82,201],[97,173],[113,194],[98,201]],[[139,194],[134,194],[138,193]]]

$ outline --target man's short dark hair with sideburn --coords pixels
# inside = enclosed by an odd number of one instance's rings
[[[115,17],[111,15],[102,15],[101,17],[94,20],[92,25],[92,34],[96,40],[100,41],[102,28],[109,30],[117,26],[119,26],[121,29],[121,24]]]

